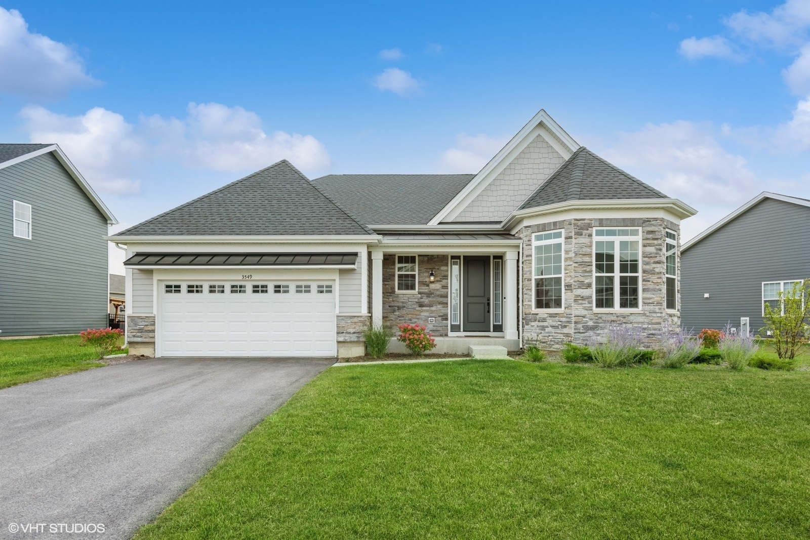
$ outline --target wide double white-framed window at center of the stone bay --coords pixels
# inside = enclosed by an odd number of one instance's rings
[[[639,309],[642,230],[594,229],[594,308]]]

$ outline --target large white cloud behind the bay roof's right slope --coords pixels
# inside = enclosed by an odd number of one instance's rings
[[[647,124],[622,133],[602,152],[605,159],[692,206],[722,201],[736,205],[761,191],[741,155],[726,151],[706,129],[690,121]]]

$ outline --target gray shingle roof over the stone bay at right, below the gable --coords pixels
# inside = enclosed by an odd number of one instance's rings
[[[669,197],[586,147],[579,147],[518,210],[566,201],[637,198]]]

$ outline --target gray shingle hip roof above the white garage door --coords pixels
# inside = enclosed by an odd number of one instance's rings
[[[367,235],[286,159],[115,236]]]

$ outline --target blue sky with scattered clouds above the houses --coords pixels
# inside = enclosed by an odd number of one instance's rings
[[[3,2],[0,140],[58,142],[124,225],[288,158],[477,172],[539,108],[700,210],[810,197],[803,2]]]

